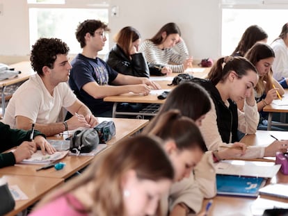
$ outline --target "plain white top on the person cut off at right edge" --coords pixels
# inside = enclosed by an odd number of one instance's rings
[[[273,77],[280,81],[282,78],[288,77],[288,48],[284,40],[275,40],[271,47],[275,52],[275,60],[272,65]]]

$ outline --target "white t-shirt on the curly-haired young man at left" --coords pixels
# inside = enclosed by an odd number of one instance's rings
[[[29,78],[10,99],[3,122],[16,128],[17,115],[22,115],[40,124],[56,122],[61,108],[67,108],[77,100],[67,83],[59,83],[54,88],[53,96],[49,94],[38,74]]]

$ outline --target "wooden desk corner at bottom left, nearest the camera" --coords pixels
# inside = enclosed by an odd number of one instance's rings
[[[51,189],[56,188],[64,182],[63,178],[43,178],[36,176],[17,176],[17,175],[3,175],[8,181],[8,185],[18,185],[18,187],[27,195],[29,199],[15,201],[14,210],[6,214],[6,216],[14,216],[22,210],[28,208],[33,203],[43,197],[44,194]]]

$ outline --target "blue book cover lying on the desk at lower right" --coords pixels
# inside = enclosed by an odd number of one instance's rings
[[[216,175],[217,194],[241,197],[257,197],[265,178],[253,176]]]

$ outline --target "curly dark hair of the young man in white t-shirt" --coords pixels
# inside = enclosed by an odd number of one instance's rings
[[[40,38],[32,46],[31,66],[39,76],[43,76],[42,68],[53,69],[57,55],[67,55],[69,50],[67,44],[58,38]]]

